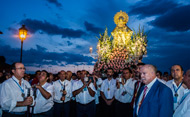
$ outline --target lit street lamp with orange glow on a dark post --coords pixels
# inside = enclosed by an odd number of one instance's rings
[[[22,63],[22,48],[23,48],[23,41],[26,39],[28,30],[25,28],[25,25],[22,25],[21,28],[19,28],[19,38],[21,40],[21,54],[20,54],[20,62]]]

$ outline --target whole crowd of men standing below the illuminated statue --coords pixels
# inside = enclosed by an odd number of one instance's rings
[[[190,70],[173,65],[171,75],[139,63],[106,75],[46,70],[35,77],[24,64],[12,64],[12,75],[0,72],[3,117],[189,117]]]

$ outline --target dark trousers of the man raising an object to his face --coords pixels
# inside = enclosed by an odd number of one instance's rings
[[[77,103],[77,117],[95,117],[95,101],[88,104]]]

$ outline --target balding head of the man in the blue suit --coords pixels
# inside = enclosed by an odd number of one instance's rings
[[[148,85],[156,78],[156,67],[150,64],[144,65],[140,69],[141,79],[145,85]]]

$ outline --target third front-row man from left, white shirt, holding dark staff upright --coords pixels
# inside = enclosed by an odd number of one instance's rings
[[[65,71],[58,73],[59,80],[53,83],[54,87],[54,116],[69,117],[70,100],[72,97],[71,82],[66,80]]]

